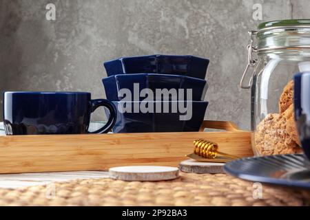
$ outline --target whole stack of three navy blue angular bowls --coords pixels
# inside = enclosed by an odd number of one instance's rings
[[[208,102],[209,60],[151,55],[104,63],[105,95],[117,109],[114,133],[199,131]]]

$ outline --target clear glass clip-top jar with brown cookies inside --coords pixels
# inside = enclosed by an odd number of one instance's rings
[[[310,71],[310,20],[261,23],[249,34],[248,65],[240,87],[251,89],[254,155],[299,153],[292,78]]]

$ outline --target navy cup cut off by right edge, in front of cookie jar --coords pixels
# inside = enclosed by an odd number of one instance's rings
[[[299,139],[310,159],[310,72],[294,76],[294,109]]]

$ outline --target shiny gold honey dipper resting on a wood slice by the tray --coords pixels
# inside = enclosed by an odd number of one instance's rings
[[[218,144],[203,139],[194,140],[194,153],[186,156],[200,162],[229,162],[232,159],[240,159],[235,155],[218,151]]]

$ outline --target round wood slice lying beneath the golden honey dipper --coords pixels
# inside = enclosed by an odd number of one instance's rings
[[[225,163],[197,162],[194,159],[187,159],[180,162],[179,168],[185,173],[225,173]]]

